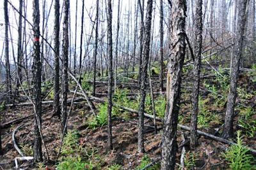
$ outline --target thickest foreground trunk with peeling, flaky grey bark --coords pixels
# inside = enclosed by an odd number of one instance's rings
[[[186,1],[172,0],[171,53],[168,59],[161,169],[175,169],[180,83],[186,50]]]

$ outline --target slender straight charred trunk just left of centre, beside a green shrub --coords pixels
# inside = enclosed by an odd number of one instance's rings
[[[112,143],[112,86],[113,86],[113,40],[112,40],[112,5],[108,0],[108,148],[113,149]]]

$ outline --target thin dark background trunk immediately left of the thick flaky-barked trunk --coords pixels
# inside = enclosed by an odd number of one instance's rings
[[[163,41],[164,41],[164,30],[163,30],[163,20],[164,20],[164,10],[163,10],[163,0],[160,0],[160,57],[159,57],[159,64],[160,64],[160,74],[159,74],[159,87],[160,92],[163,92]]]

